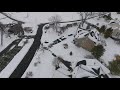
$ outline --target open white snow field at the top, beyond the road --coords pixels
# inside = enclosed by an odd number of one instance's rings
[[[23,27],[29,26],[33,28],[33,33],[27,35],[35,35],[36,34],[36,28],[38,28],[38,25],[40,23],[46,23],[49,22],[48,19],[51,16],[54,15],[60,15],[62,18],[62,21],[72,21],[72,20],[78,20],[79,15],[76,12],[5,12],[12,18],[15,18],[16,20],[24,21],[25,24],[23,24]],[[0,14],[1,18],[4,18],[5,16]],[[1,19],[1,22],[4,24],[12,23],[13,20],[10,20],[8,18]],[[26,33],[25,33],[26,35]]]

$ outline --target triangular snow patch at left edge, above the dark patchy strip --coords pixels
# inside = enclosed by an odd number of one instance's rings
[[[6,35],[3,35],[3,46],[1,46],[1,32],[0,32],[0,52],[4,50],[10,43],[12,43],[14,40],[18,39],[17,36],[11,35],[10,37],[6,37]]]

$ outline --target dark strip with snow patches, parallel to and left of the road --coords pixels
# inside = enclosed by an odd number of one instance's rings
[[[0,53],[0,72],[9,64],[14,56],[22,49],[22,46],[17,46],[21,39],[13,41],[7,48]],[[9,58],[8,58],[9,57]]]

